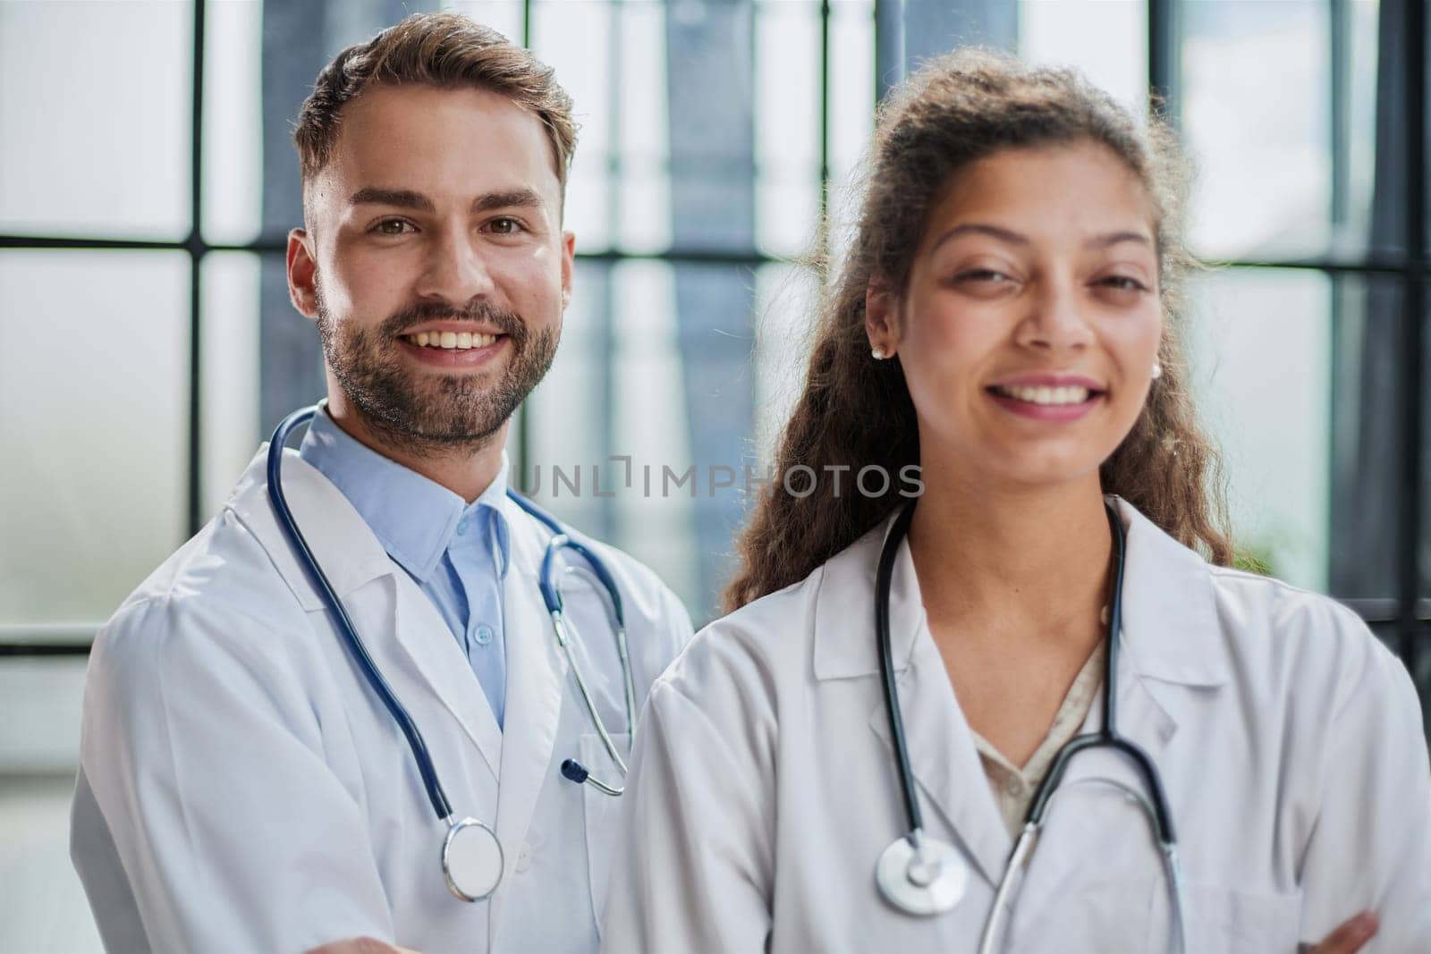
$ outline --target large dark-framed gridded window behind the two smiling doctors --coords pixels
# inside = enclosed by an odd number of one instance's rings
[[[432,6],[0,0],[0,871],[44,872],[6,880],[0,950],[96,945],[63,858],[83,655],[322,393],[283,283],[290,122],[336,50]],[[698,621],[731,566],[738,468],[758,471],[798,388],[817,217],[879,92],[973,40],[1079,66],[1139,110],[1159,92],[1199,167],[1211,267],[1188,339],[1238,539],[1361,612],[1431,701],[1420,3],[454,6],[550,62],[582,124],[575,297],[514,428],[518,482]],[[597,496],[612,456],[634,488]],[[641,492],[643,465],[694,466],[695,493]]]

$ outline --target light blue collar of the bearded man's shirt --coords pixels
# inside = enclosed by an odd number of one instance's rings
[[[511,533],[499,506],[507,495],[508,461],[471,503],[435,481],[382,456],[339,428],[322,408],[299,449],[308,463],[342,492],[372,529],[378,542],[419,584],[452,545],[458,523],[475,522],[474,544],[492,548],[492,562],[507,575]]]

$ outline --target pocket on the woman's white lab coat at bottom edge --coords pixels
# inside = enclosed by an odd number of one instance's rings
[[[1301,894],[1236,891],[1218,884],[1189,882],[1183,895],[1189,951],[1296,951]]]

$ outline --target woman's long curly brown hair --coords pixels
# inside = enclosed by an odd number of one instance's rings
[[[1066,69],[1029,67],[1002,54],[964,50],[932,60],[880,107],[864,170],[863,200],[839,277],[820,306],[810,366],[780,439],[776,473],[797,465],[879,465],[886,473],[919,463],[914,405],[897,358],[870,359],[864,296],[871,279],[904,289],[927,217],[952,177],[1005,149],[1102,143],[1138,174],[1155,209],[1165,328],[1163,373],[1133,429],[1099,476],[1179,542],[1215,564],[1232,562],[1222,472],[1196,423],[1179,340],[1182,240],[1188,166],[1158,117],[1139,124],[1106,93]],[[804,579],[876,526],[904,498],[836,495],[819,481],[804,496],[773,481],[738,538],[740,568],[727,611]],[[801,483],[801,488],[804,485]]]

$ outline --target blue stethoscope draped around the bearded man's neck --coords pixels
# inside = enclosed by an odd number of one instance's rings
[[[448,827],[446,837],[442,840],[442,875],[446,880],[448,890],[459,901],[484,901],[491,897],[492,891],[495,891],[497,885],[502,881],[505,857],[502,854],[502,845],[497,840],[497,832],[487,822],[478,821],[477,818],[456,818],[452,812],[452,805],[448,802],[442,782],[438,781],[436,768],[432,765],[432,755],[428,754],[426,742],[422,741],[422,732],[418,731],[412,717],[408,715],[408,709],[398,701],[392,687],[388,685],[388,681],[382,678],[382,672],[378,671],[378,665],[373,662],[372,657],[368,654],[368,648],[358,636],[358,629],[353,626],[352,618],[343,608],[342,601],[338,599],[338,594],[328,581],[328,575],[323,574],[322,566],[318,565],[318,558],[313,556],[313,551],[309,548],[302,531],[298,529],[293,512],[289,509],[288,499],[283,496],[280,473],[283,446],[288,443],[289,435],[296,428],[312,421],[316,412],[316,405],[312,408],[301,408],[283,418],[283,421],[273,431],[273,438],[269,441],[268,452],[269,501],[273,505],[273,512],[278,515],[279,526],[283,528],[283,533],[293,545],[293,549],[298,551],[299,562],[308,572],[309,581],[318,589],[319,596],[332,614],[333,621],[338,625],[338,634],[342,636],[348,652],[358,664],[358,668],[362,669],[363,677],[366,677],[368,685],[372,687],[373,694],[382,699],[382,704],[388,708],[392,719],[408,738],[408,747],[412,749],[412,759],[416,762],[418,774],[422,777],[422,785],[426,788],[428,801],[432,802],[432,810],[436,812],[438,818]],[[617,642],[617,655],[621,659],[625,717],[627,727],[630,727],[627,752],[630,754],[631,742],[635,741],[635,682],[631,678],[631,658],[627,652],[625,614],[621,608],[621,589],[617,586],[615,578],[611,575],[605,562],[597,556],[595,551],[581,541],[572,539],[557,518],[547,513],[512,489],[507,491],[507,496],[511,498],[511,501],[524,512],[531,515],[552,532],[551,541],[547,542],[547,552],[542,555],[541,575],[538,578],[542,602],[547,604],[547,614],[551,616],[551,625],[557,634],[557,644],[567,657],[567,665],[577,682],[577,691],[581,695],[581,702],[587,708],[587,715],[591,718],[591,724],[595,727],[597,735],[601,738],[602,748],[605,748],[607,755],[611,757],[611,761],[621,772],[621,778],[625,780],[625,759],[621,757],[621,752],[617,751],[617,745],[611,739],[611,734],[607,731],[605,722],[601,719],[601,714],[597,712],[595,701],[591,698],[591,691],[587,688],[587,681],[581,675],[581,667],[577,665],[575,655],[571,649],[571,634],[568,634],[570,624],[562,615],[564,604],[561,586],[557,584],[558,555],[561,555],[562,551],[580,554],[587,561],[587,565],[597,576],[602,589],[607,592],[612,618],[612,631]],[[624,787],[611,785],[598,780],[574,758],[568,758],[561,764],[561,774],[577,784],[585,782],[607,795],[621,795],[625,791]]]

